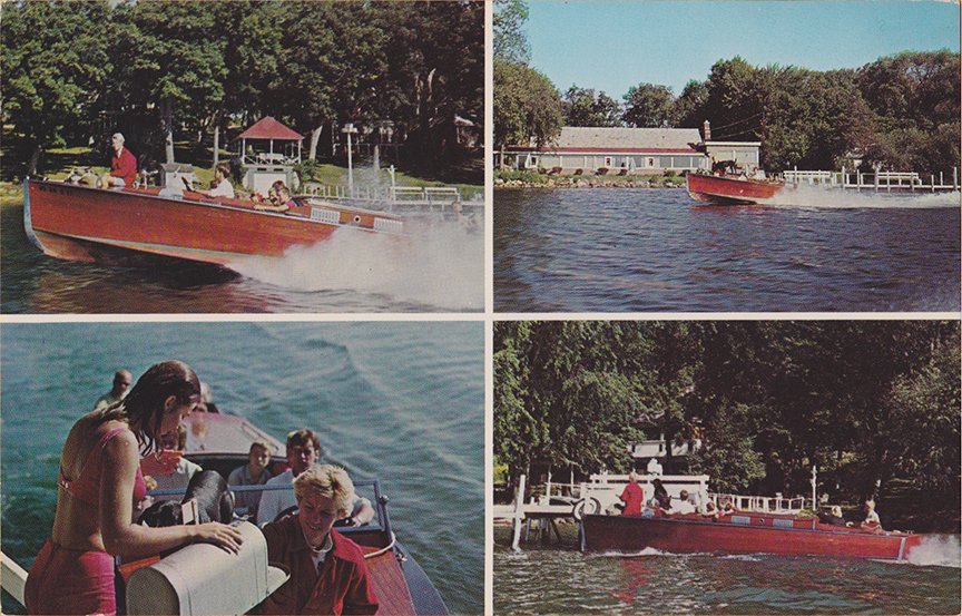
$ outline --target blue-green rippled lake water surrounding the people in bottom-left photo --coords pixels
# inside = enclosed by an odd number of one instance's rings
[[[181,359],[224,412],[380,479],[394,530],[453,614],[484,613],[484,325],[3,323],[2,549],[29,568],[49,537],[73,421],[153,363]],[[18,613],[9,597],[3,613]],[[22,613],[22,608],[20,608]]]

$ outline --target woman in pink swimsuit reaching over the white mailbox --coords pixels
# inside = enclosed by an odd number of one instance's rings
[[[134,521],[147,491],[141,452],[176,430],[199,400],[190,366],[168,361],[145,372],[127,398],[73,424],[60,456],[53,532],[27,578],[30,614],[116,614],[114,556],[153,556],[194,541],[239,549],[240,534],[227,525]]]

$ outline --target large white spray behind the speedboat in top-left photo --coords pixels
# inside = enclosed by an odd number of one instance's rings
[[[392,306],[481,311],[484,238],[463,226],[435,224],[399,237],[337,229],[330,239],[294,247],[283,258],[242,258],[235,272],[301,293],[346,291],[387,297]]]

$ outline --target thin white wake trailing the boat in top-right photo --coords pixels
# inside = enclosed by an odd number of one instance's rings
[[[816,208],[915,208],[960,207],[959,193],[883,193],[855,192],[815,185],[799,185],[795,190],[777,193],[766,202],[775,207],[816,207]]]

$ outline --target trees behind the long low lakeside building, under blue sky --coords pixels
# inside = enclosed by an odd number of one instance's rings
[[[926,173],[960,165],[959,53],[905,51],[831,71],[755,67],[736,56],[678,96],[641,82],[619,102],[577,85],[560,92],[528,66],[524,3],[495,4],[495,148],[548,144],[561,126],[701,128],[708,120],[715,140],[762,141],[762,164],[772,172],[852,169],[856,159],[866,169]]]

